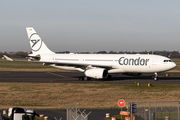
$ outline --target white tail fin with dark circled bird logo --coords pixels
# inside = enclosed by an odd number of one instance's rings
[[[26,28],[30,46],[34,55],[39,54],[54,54],[41,40],[37,32],[32,27]]]

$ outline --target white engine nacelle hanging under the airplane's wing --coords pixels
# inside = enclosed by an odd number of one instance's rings
[[[96,78],[96,79],[103,79],[108,77],[108,71],[103,68],[93,68],[86,70],[84,74],[87,77]]]

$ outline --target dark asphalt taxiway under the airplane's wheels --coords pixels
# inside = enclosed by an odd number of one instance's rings
[[[166,74],[166,73],[162,73]],[[79,81],[80,72],[0,72],[0,82],[39,82],[39,83],[103,83],[103,84],[180,84],[180,73],[168,73],[168,77],[159,77],[154,81],[152,75],[126,76],[112,74],[111,80]]]

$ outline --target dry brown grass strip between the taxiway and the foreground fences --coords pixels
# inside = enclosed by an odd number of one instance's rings
[[[65,106],[119,108],[117,102],[179,101],[180,85],[121,85],[70,83],[0,83],[0,107],[64,109]]]

